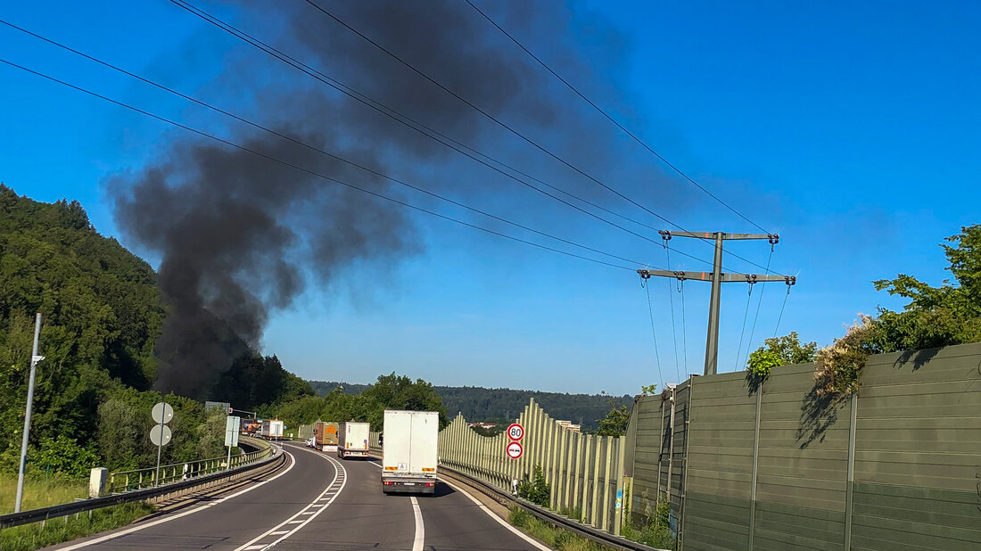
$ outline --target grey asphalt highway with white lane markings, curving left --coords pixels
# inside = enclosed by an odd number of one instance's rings
[[[461,488],[385,495],[376,461],[341,461],[299,445],[289,463],[228,495],[53,549],[546,550]]]

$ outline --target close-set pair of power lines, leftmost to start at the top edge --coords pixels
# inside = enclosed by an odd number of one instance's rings
[[[366,94],[363,94],[363,93],[361,93],[361,92],[359,92],[359,91],[351,88],[350,86],[344,84],[343,82],[340,82],[339,80],[337,80],[336,78],[334,78],[334,77],[332,77],[330,75],[325,75],[324,73],[318,71],[317,69],[311,68],[310,66],[304,64],[303,62],[296,60],[295,58],[289,56],[288,54],[285,54],[284,52],[282,52],[282,51],[278,50],[277,48],[275,48],[275,47],[267,44],[266,42],[263,42],[262,40],[254,37],[252,35],[250,35],[249,33],[245,32],[243,30],[240,30],[240,29],[234,27],[233,25],[230,25],[230,24],[222,21],[221,19],[219,19],[219,18],[217,18],[215,16],[212,16],[211,14],[205,12],[204,10],[201,10],[200,8],[197,8],[197,7],[193,6],[189,2],[185,2],[184,0],[171,0],[171,2],[173,4],[181,7],[181,9],[183,9],[183,10],[185,10],[185,11],[193,14],[194,16],[196,16],[196,17],[204,20],[205,22],[209,23],[210,25],[214,25],[214,26],[216,26],[218,28],[221,28],[222,30],[224,30],[224,31],[232,34],[232,36],[235,36],[239,40],[242,40],[242,41],[244,41],[244,42],[252,45],[253,47],[255,47],[257,49],[262,50],[263,52],[267,53],[268,55],[273,56],[274,58],[280,60],[281,62],[285,63],[286,65],[288,65],[288,66],[290,66],[290,67],[292,67],[292,68],[294,68],[294,69],[296,69],[296,70],[298,70],[298,71],[300,71],[300,72],[302,72],[302,73],[304,73],[306,75],[309,75],[309,76],[311,76],[311,77],[319,80],[320,82],[322,82],[322,83],[324,83],[324,84],[326,84],[326,85],[334,88],[335,90],[337,90],[338,92],[346,95],[347,97],[350,97],[351,99],[354,99],[355,101],[358,101],[359,103],[361,103],[361,104],[363,104],[363,105],[365,105],[367,107],[370,107],[371,109],[374,109],[375,111],[378,111],[379,113],[385,115],[386,117],[392,119],[393,121],[396,121],[399,124],[406,125],[406,126],[412,128],[412,129],[418,131],[419,133],[421,133],[421,134],[429,137],[430,139],[433,139],[434,141],[436,141],[436,142],[438,142],[438,143],[440,143],[440,144],[442,144],[442,145],[444,145],[444,146],[446,146],[446,147],[448,147],[448,148],[456,151],[457,153],[460,153],[461,155],[463,155],[465,157],[468,157],[468,158],[470,158],[470,159],[472,159],[472,160],[480,163],[481,165],[484,165],[485,167],[488,167],[490,170],[492,170],[492,171],[494,171],[494,172],[496,172],[496,173],[498,173],[500,175],[504,175],[504,176],[506,176],[506,177],[508,177],[510,179],[513,179],[514,181],[516,181],[516,182],[518,182],[518,183],[520,183],[522,185],[525,185],[525,186],[527,186],[527,187],[529,187],[531,189],[534,189],[535,191],[538,191],[539,193],[542,193],[543,195],[545,195],[547,197],[550,197],[550,198],[552,198],[552,199],[554,199],[554,200],[556,200],[556,201],[558,201],[558,202],[560,202],[560,203],[562,203],[564,205],[567,205],[567,206],[569,206],[572,209],[575,209],[575,210],[577,210],[577,211],[579,211],[579,212],[581,212],[583,214],[586,214],[587,216],[589,216],[591,218],[594,218],[594,219],[596,219],[596,220],[598,220],[600,222],[603,222],[604,224],[612,225],[613,227],[616,227],[616,228],[621,229],[621,230],[623,230],[623,231],[625,231],[627,233],[630,233],[630,234],[632,234],[632,235],[634,235],[636,237],[639,237],[641,239],[644,239],[647,242],[650,242],[650,243],[656,243],[657,242],[654,239],[652,239],[652,238],[650,238],[650,237],[648,237],[648,236],[646,236],[646,235],[644,235],[642,233],[638,233],[638,232],[636,232],[636,231],[634,231],[632,229],[629,229],[627,227],[624,227],[623,225],[618,225],[618,224],[616,224],[614,222],[611,222],[611,221],[609,221],[607,219],[604,219],[604,218],[596,215],[595,213],[593,213],[593,212],[591,212],[589,210],[583,209],[582,207],[580,207],[578,205],[574,205],[572,203],[569,203],[568,201],[565,201],[565,200],[561,199],[560,197],[556,197],[555,195],[553,195],[551,193],[548,193],[547,191],[543,190],[542,188],[539,188],[539,187],[535,186],[534,184],[531,184],[528,181],[525,181],[524,179],[522,179],[522,178],[520,178],[520,177],[518,177],[516,175],[512,175],[512,174],[510,174],[510,173],[508,173],[506,171],[503,171],[503,170],[499,169],[498,167],[495,167],[495,166],[491,165],[490,163],[488,163],[488,162],[486,162],[486,161],[484,161],[482,159],[479,159],[474,154],[468,153],[467,151],[464,151],[462,148],[468,149],[470,151],[474,151],[476,155],[480,155],[481,157],[485,157],[485,158],[489,159],[490,161],[492,161],[493,163],[496,163],[498,165],[501,165],[503,167],[506,167],[509,170],[513,170],[516,173],[519,173],[519,174],[522,174],[522,175],[524,174],[524,173],[521,173],[520,171],[517,171],[516,169],[513,169],[512,167],[509,167],[508,165],[504,164],[501,161],[495,160],[495,159],[491,158],[490,156],[488,156],[488,155],[486,155],[484,153],[480,153],[480,152],[476,151],[474,148],[472,148],[470,146],[459,144],[459,142],[457,142],[456,140],[453,140],[452,138],[449,138],[449,137],[445,136],[444,134],[441,134],[438,131],[433,130],[429,126],[426,126],[426,125],[423,125],[423,124],[421,124],[419,122],[414,121],[413,119],[409,118],[408,116],[406,116],[404,114],[401,114],[397,110],[392,109],[390,107],[387,107],[385,104],[383,104],[383,103],[381,103],[381,102],[379,102],[377,100],[374,100],[371,97],[367,96]],[[438,136],[442,136],[443,139],[440,139]],[[444,140],[446,140],[446,141],[444,141]],[[450,142],[452,142],[452,143],[450,143]],[[453,143],[459,144],[460,147],[454,146]],[[535,179],[537,181],[542,182],[542,180],[539,180],[537,178],[535,178]],[[622,215],[619,215],[619,214],[616,214],[616,213],[614,213],[612,211],[609,211],[608,209],[605,209],[605,208],[603,208],[601,206],[598,206],[598,205],[596,205],[596,204],[594,204],[594,203],[592,203],[592,202],[590,202],[590,201],[588,201],[586,199],[583,199],[581,197],[578,197],[578,196],[576,196],[574,194],[571,194],[571,193],[569,193],[567,191],[561,190],[561,189],[559,189],[559,188],[557,188],[557,187],[555,187],[553,185],[550,185],[550,184],[547,184],[547,183],[544,183],[544,182],[542,182],[542,183],[544,185],[546,185],[547,187],[551,188],[551,189],[555,189],[555,190],[557,190],[557,191],[559,191],[559,192],[561,192],[561,193],[563,193],[563,194],[565,194],[567,196],[570,196],[570,197],[575,198],[578,201],[582,201],[585,204],[588,204],[590,206],[593,206],[594,208],[597,208],[597,209],[603,210],[605,212],[614,214],[615,216],[619,216],[620,218],[624,218],[625,220],[628,220],[628,221],[633,222],[635,224],[644,225],[642,223],[639,223],[637,221],[633,221],[633,220],[631,220],[629,218],[623,217]],[[645,225],[645,227],[650,227],[650,226],[649,225]],[[703,264],[707,264],[707,265],[711,265],[712,264],[711,262],[709,262],[709,261],[707,261],[705,259],[698,258],[698,257],[696,257],[694,255],[685,253],[683,251],[676,250],[675,252],[677,252],[680,255],[683,255],[683,256],[686,256],[688,258],[691,258],[693,260],[697,260],[698,262],[701,262]],[[733,256],[736,256],[737,258],[741,258],[742,259],[742,257],[739,257],[738,255],[733,255]],[[749,261],[747,259],[742,259],[742,260],[746,260],[750,264],[753,264],[751,261]]]

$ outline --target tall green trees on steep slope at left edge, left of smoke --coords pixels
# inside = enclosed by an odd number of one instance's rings
[[[76,202],[44,204],[0,184],[0,468],[16,469],[33,313],[43,317],[31,444],[94,437],[98,403],[149,386],[164,318],[154,273],[96,233]],[[36,455],[34,457],[37,457]],[[14,464],[10,464],[13,459]]]

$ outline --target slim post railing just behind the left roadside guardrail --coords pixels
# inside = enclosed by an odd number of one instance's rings
[[[168,484],[195,476],[210,475],[212,473],[227,471],[228,469],[236,469],[245,465],[251,465],[256,461],[261,461],[273,453],[273,447],[269,444],[269,442],[264,440],[242,437],[241,443],[252,448],[258,448],[258,450],[233,455],[231,465],[227,465],[228,456],[200,459],[185,463],[173,463],[171,465],[161,465],[159,479],[157,479],[156,467],[111,473],[109,475],[109,480],[106,481],[106,492],[127,492],[151,486],[158,486],[161,484]]]

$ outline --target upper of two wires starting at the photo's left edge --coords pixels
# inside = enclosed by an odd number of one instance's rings
[[[197,104],[197,105],[199,105],[201,107],[207,108],[207,109],[209,109],[211,111],[214,111],[216,113],[220,113],[222,115],[225,115],[227,117],[230,117],[230,118],[234,119],[235,121],[238,121],[238,122],[243,123],[245,125],[250,125],[252,127],[261,129],[261,130],[263,130],[265,132],[274,134],[274,135],[279,136],[279,137],[281,137],[281,138],[283,138],[285,140],[288,140],[288,141],[290,141],[292,143],[295,143],[297,145],[300,145],[302,147],[305,147],[307,149],[310,149],[311,151],[315,151],[317,153],[320,153],[322,155],[325,155],[327,157],[330,157],[331,159],[335,159],[336,161],[339,161],[341,163],[345,163],[345,164],[350,165],[352,167],[358,168],[358,169],[360,169],[362,171],[365,171],[365,172],[367,172],[369,174],[377,175],[377,176],[386,178],[389,181],[392,181],[392,182],[397,183],[399,185],[408,187],[408,188],[413,189],[415,191],[418,191],[420,193],[424,193],[424,194],[429,195],[431,197],[437,198],[437,199],[439,199],[441,201],[444,201],[446,203],[449,203],[451,205],[454,205],[454,206],[457,206],[457,207],[461,207],[461,208],[466,209],[468,211],[471,211],[471,212],[474,212],[474,213],[477,213],[477,214],[486,216],[486,217],[488,217],[490,219],[496,220],[496,221],[501,222],[503,224],[507,224],[507,225],[512,225],[512,226],[515,226],[515,227],[519,227],[519,228],[524,229],[526,231],[531,231],[533,233],[537,233],[539,235],[542,235],[543,237],[547,237],[549,239],[560,241],[562,243],[566,243],[568,245],[572,245],[574,247],[581,248],[581,249],[584,249],[584,250],[587,250],[587,251],[590,251],[590,252],[594,252],[594,253],[597,253],[597,254],[600,254],[600,255],[609,257],[609,258],[613,258],[613,259],[616,259],[616,260],[621,260],[621,261],[624,261],[624,262],[629,262],[629,263],[636,264],[636,265],[639,265],[639,266],[643,266],[644,265],[644,263],[641,263],[641,262],[638,262],[638,261],[635,261],[635,260],[631,260],[631,259],[628,259],[628,258],[624,258],[624,257],[618,256],[618,255],[614,255],[614,254],[611,254],[611,253],[607,253],[607,252],[604,252],[604,251],[601,251],[601,250],[598,250],[598,249],[594,249],[593,247],[589,247],[587,245],[583,245],[583,244],[577,243],[575,241],[571,241],[569,239],[558,237],[558,236],[555,236],[555,235],[546,233],[544,231],[535,229],[533,227],[529,227],[527,225],[518,224],[516,222],[512,222],[510,220],[504,219],[504,218],[499,217],[497,215],[493,215],[493,214],[490,214],[488,212],[485,212],[485,211],[483,211],[481,209],[478,209],[478,208],[475,208],[475,207],[471,207],[469,205],[466,205],[466,204],[461,203],[459,201],[456,201],[454,199],[450,199],[448,197],[444,197],[442,195],[439,195],[439,193],[436,193],[436,192],[430,191],[428,189],[425,189],[425,188],[422,188],[422,187],[419,187],[419,186],[410,184],[408,182],[405,182],[405,181],[400,180],[398,178],[395,178],[393,176],[383,174],[383,173],[381,173],[381,172],[379,172],[377,170],[374,170],[374,169],[365,167],[365,166],[360,165],[360,164],[358,164],[356,162],[353,162],[353,161],[350,161],[350,160],[345,159],[343,157],[340,157],[338,155],[335,155],[335,154],[333,154],[333,153],[331,153],[329,151],[326,151],[326,150],[324,150],[322,148],[319,148],[319,147],[310,145],[310,144],[308,144],[306,142],[303,142],[302,140],[299,140],[299,139],[297,139],[295,137],[292,137],[290,135],[284,134],[282,132],[279,132],[277,130],[274,130],[274,129],[269,128],[269,127],[264,126],[264,125],[259,125],[257,123],[252,122],[252,121],[249,121],[249,120],[247,120],[247,119],[245,119],[243,117],[239,117],[237,115],[234,115],[234,114],[232,114],[232,113],[230,113],[228,111],[225,111],[225,110],[223,110],[221,108],[215,107],[215,106],[213,106],[211,104],[208,104],[208,103],[206,103],[204,101],[198,100],[198,99],[196,99],[196,98],[194,98],[192,96],[183,94],[180,91],[177,91],[177,90],[175,90],[173,88],[170,88],[168,86],[165,86],[163,84],[160,84],[158,82],[155,82],[153,80],[150,80],[149,78],[145,78],[143,76],[135,75],[133,73],[130,73],[129,71],[127,71],[125,69],[119,68],[119,67],[117,67],[115,65],[112,65],[112,64],[110,64],[108,62],[105,62],[103,60],[100,60],[98,58],[95,58],[93,56],[90,56],[88,54],[85,54],[84,52],[80,52],[80,51],[78,51],[78,50],[76,50],[76,49],[74,49],[74,48],[72,48],[70,46],[66,46],[66,45],[61,44],[61,43],[59,43],[59,42],[57,42],[55,40],[52,40],[50,38],[41,36],[40,34],[37,34],[37,33],[32,32],[30,30],[27,30],[26,28],[20,27],[18,25],[13,25],[13,24],[8,23],[8,22],[3,21],[3,20],[0,20],[0,24],[10,26],[10,27],[15,28],[17,30],[20,30],[21,32],[25,32],[26,34],[29,34],[30,36],[33,36],[33,37],[38,38],[40,40],[43,40],[43,41],[45,41],[45,42],[47,42],[49,44],[52,44],[54,46],[57,46],[57,47],[62,48],[64,50],[67,50],[67,51],[72,52],[74,54],[77,54],[78,56],[81,56],[81,57],[83,57],[83,58],[85,58],[87,60],[90,60],[92,62],[98,63],[98,64],[100,64],[100,65],[102,65],[104,67],[107,67],[109,69],[112,69],[114,71],[117,71],[119,73],[122,73],[124,75],[129,75],[132,78],[135,78],[137,80],[140,80],[141,82],[144,82],[146,84],[150,84],[152,86],[155,86],[156,88],[161,89],[161,90],[164,90],[164,91],[167,91],[167,92],[169,92],[171,94],[177,95],[177,96],[179,96],[179,97],[181,97],[181,98],[183,98],[183,99],[185,99],[187,101],[193,102],[194,104]]]

